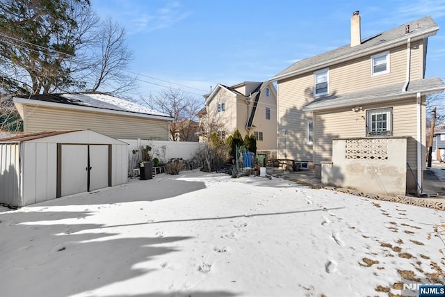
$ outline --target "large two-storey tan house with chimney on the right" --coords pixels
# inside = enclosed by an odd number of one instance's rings
[[[351,186],[348,181],[355,176],[363,186],[384,171],[385,164],[379,168],[369,162],[386,160],[388,143],[401,138],[407,147],[399,147],[401,166],[387,168],[401,170],[399,179],[380,184],[405,182],[407,191],[420,191],[426,95],[445,88],[441,79],[424,77],[428,37],[439,27],[431,17],[423,17],[362,39],[357,11],[350,29],[350,45],[298,61],[270,79],[277,81],[278,158],[307,163],[318,176],[326,163],[333,171],[325,172],[324,182]],[[343,144],[333,147],[337,140]],[[382,156],[377,156],[380,141]],[[336,160],[335,150],[346,161]],[[351,160],[358,163],[349,165]],[[364,164],[374,167],[361,167]],[[371,171],[371,177],[363,175]],[[400,192],[384,186],[380,193]]]

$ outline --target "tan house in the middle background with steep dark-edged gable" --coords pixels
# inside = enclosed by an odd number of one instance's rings
[[[238,129],[243,138],[254,134],[257,150],[276,149],[277,95],[273,83],[245,81],[230,87],[218,84],[204,97],[205,109],[198,113],[201,128],[209,126],[220,138]],[[201,136],[200,141],[205,139]]]

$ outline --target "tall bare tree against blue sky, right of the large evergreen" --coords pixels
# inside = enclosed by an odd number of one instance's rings
[[[112,19],[106,19],[96,34],[98,51],[94,72],[92,73],[93,86],[96,92],[105,88],[109,93],[124,93],[136,86],[136,79],[124,72],[129,61],[133,59],[125,42],[125,30]]]

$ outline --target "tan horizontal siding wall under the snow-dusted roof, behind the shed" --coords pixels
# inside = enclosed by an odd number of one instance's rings
[[[168,121],[90,111],[26,106],[26,133],[91,129],[113,138],[168,141]]]

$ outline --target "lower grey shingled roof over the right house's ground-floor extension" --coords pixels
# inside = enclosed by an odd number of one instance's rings
[[[415,97],[417,93],[429,95],[441,93],[445,90],[445,83],[439,79],[439,77],[411,81],[405,92],[402,90],[404,84],[405,83],[396,83],[391,86],[359,90],[343,95],[322,96],[304,106],[303,111],[321,111],[337,107],[355,106],[357,104],[385,102],[406,97]]]

